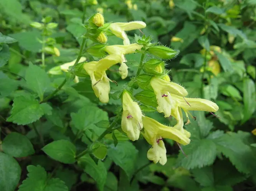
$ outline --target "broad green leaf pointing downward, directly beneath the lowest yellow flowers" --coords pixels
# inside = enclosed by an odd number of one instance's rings
[[[107,151],[107,155],[124,170],[129,180],[135,170],[137,154],[134,145],[127,141],[118,142],[116,147],[112,144]]]

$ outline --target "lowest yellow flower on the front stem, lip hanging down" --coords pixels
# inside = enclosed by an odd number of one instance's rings
[[[147,152],[147,158],[153,160],[154,163],[159,162],[164,165],[167,162],[163,138],[172,139],[183,145],[190,143],[190,133],[186,130],[184,130],[185,133],[181,133],[178,129],[165,126],[149,117],[142,117],[142,121],[144,125],[144,133],[142,135],[152,145]]]

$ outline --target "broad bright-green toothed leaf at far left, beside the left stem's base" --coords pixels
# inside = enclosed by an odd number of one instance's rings
[[[33,123],[51,111],[50,105],[46,103],[39,104],[33,97],[15,97],[12,106],[11,116],[7,118],[7,121],[18,125]]]

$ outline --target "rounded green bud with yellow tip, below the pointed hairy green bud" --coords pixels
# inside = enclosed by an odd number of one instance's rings
[[[143,70],[149,74],[163,74],[164,62],[157,59],[150,59],[144,64]]]

